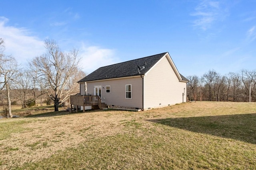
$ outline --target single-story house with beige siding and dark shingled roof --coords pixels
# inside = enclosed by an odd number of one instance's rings
[[[186,102],[187,82],[168,52],[100,67],[78,81],[81,96],[99,96],[110,108],[134,110]]]

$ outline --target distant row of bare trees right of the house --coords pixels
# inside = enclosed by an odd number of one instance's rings
[[[255,102],[256,70],[243,69],[221,75],[209,70],[201,77],[187,77],[190,101]]]

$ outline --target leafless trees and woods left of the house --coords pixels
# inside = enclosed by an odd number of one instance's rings
[[[42,103],[42,96],[46,95],[58,111],[60,103],[79,92],[77,81],[86,76],[79,65],[79,50],[61,51],[52,39],[46,39],[44,47],[44,54],[21,67],[14,57],[5,55],[4,39],[0,38],[0,104],[7,117],[12,117],[14,100],[26,108],[30,102],[36,104],[38,98]]]

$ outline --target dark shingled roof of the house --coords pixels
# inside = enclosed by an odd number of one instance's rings
[[[100,67],[88,76],[79,80],[78,82],[89,82],[110,78],[144,75],[146,72],[148,72],[148,70],[150,70],[150,68],[152,68],[152,66],[154,66],[154,64],[156,64],[162,57],[164,57],[164,55],[166,55],[166,53],[161,53],[157,55],[143,57],[140,59],[126,61],[123,63],[117,63],[109,66]],[[144,66],[145,68],[138,72],[138,66]],[[180,76],[182,77],[182,80],[188,81],[181,74]]]

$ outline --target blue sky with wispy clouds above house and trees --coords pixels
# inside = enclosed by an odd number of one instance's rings
[[[6,54],[26,63],[54,39],[83,70],[169,52],[184,76],[256,68],[255,0],[0,0]]]

